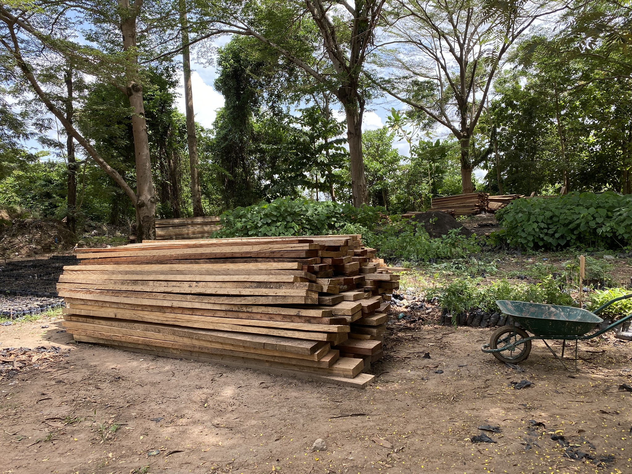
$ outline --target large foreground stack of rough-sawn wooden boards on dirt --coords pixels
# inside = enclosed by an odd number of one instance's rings
[[[361,236],[76,249],[59,296],[76,341],[363,387],[399,276]]]

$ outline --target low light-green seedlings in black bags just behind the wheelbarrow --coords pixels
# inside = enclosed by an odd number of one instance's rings
[[[502,279],[482,286],[480,278],[457,278],[439,290],[439,304],[453,318],[466,311],[495,312],[497,300],[528,301],[549,305],[572,306],[573,298],[564,293],[559,283],[547,276],[541,283],[515,283]]]

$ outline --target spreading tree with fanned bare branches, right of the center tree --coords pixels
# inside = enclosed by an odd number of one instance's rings
[[[380,87],[437,124],[461,145],[461,187],[473,191],[472,171],[485,159],[471,139],[495,76],[509,48],[542,16],[549,0],[494,3],[486,0],[392,0],[389,33],[379,61],[399,71]],[[384,70],[387,71],[387,70]]]

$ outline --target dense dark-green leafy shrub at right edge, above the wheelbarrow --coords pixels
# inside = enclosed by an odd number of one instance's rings
[[[509,245],[621,248],[632,244],[632,195],[579,193],[516,199],[496,213]],[[498,237],[498,236],[497,236]]]

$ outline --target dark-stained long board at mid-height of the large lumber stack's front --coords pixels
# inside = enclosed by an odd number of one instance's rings
[[[314,305],[318,303],[318,298],[312,296],[202,296],[202,295],[179,295],[178,293],[149,293],[143,291],[109,291],[99,289],[82,289],[82,288],[64,288],[58,285],[58,295],[74,296],[74,295],[99,295],[103,292],[112,295],[128,296],[139,299],[155,299],[155,300],[176,300],[176,301],[195,301],[197,303],[217,303],[226,305]],[[96,293],[99,292],[99,293]],[[317,293],[318,295],[318,293]]]

